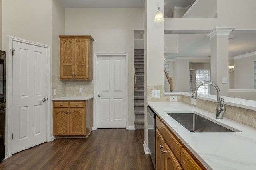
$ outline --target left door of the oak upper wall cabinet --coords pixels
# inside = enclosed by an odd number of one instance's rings
[[[73,76],[72,76],[73,74]],[[60,39],[60,78],[74,77],[74,39]]]

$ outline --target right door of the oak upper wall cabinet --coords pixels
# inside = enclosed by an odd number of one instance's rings
[[[89,78],[88,39],[75,39],[75,78]]]

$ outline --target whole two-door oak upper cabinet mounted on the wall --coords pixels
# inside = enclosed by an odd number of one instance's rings
[[[60,35],[60,80],[92,80],[91,36]]]

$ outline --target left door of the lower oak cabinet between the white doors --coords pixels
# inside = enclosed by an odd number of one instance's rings
[[[55,108],[53,113],[53,135],[68,135],[68,108]]]

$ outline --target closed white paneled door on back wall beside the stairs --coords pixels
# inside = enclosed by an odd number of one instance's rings
[[[98,56],[96,74],[98,128],[126,127],[126,57]]]

